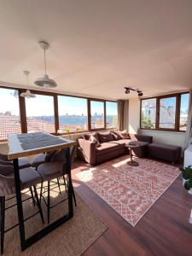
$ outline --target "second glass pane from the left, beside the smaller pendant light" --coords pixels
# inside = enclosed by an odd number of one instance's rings
[[[36,95],[26,98],[27,132],[55,132],[55,114],[53,96]]]

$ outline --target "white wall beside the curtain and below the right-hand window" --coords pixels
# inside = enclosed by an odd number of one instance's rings
[[[140,100],[138,98],[130,99],[129,101],[129,132],[139,133],[143,135],[153,136],[154,143],[165,143],[176,145],[183,148],[184,146],[184,132],[174,131],[149,131],[140,130]]]

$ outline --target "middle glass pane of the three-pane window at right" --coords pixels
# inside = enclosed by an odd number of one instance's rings
[[[160,99],[160,128],[175,129],[176,97]]]

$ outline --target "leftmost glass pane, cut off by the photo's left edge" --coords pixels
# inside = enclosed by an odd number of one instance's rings
[[[0,140],[20,132],[18,90],[0,88]]]

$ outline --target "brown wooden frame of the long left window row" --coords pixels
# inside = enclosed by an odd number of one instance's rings
[[[20,108],[20,131],[21,133],[27,133],[27,121],[26,121],[26,99],[24,97],[20,96],[20,93],[26,92],[26,89],[24,88],[15,88],[13,86],[3,86],[0,85],[0,88],[4,89],[10,89],[10,90],[18,90],[19,94],[19,108]],[[117,102],[117,101],[112,101],[112,100],[104,100],[104,99],[99,99],[99,98],[94,98],[94,97],[86,97],[86,96],[74,96],[73,94],[62,94],[62,93],[54,93],[54,92],[49,92],[49,91],[44,91],[44,90],[32,90],[30,91],[33,94],[37,95],[44,95],[44,96],[53,96],[54,98],[54,115],[55,115],[55,132],[51,133],[53,135],[67,135],[67,134],[78,134],[82,132],[89,132],[89,131],[103,131],[103,130],[111,130],[113,128],[107,128],[106,124],[106,102]],[[87,119],[88,119],[88,129],[85,131],[72,131],[72,132],[58,132],[59,130],[59,111],[58,111],[58,96],[72,96],[72,97],[77,97],[77,98],[84,98],[87,100]],[[91,116],[90,116],[90,102],[103,102],[104,103],[104,127],[103,128],[97,128],[97,129],[91,129]],[[7,142],[7,140],[3,139],[0,142]]]

